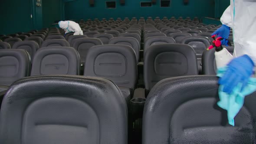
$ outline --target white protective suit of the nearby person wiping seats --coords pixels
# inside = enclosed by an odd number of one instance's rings
[[[248,55],[256,64],[256,0],[230,0],[220,21],[233,28],[234,55]]]

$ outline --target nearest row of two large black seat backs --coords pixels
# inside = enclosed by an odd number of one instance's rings
[[[215,106],[217,81],[200,75],[158,82],[145,102],[142,144],[254,144],[256,93],[246,96],[232,127]],[[107,79],[28,77],[3,98],[0,143],[127,144],[127,111],[120,89]]]

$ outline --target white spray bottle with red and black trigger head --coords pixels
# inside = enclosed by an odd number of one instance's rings
[[[213,44],[207,50],[215,48],[216,52],[214,53],[214,55],[215,55],[217,69],[219,69],[220,67],[227,65],[233,56],[230,54],[230,52],[228,52],[228,50],[226,50],[226,48],[222,47],[220,41],[223,38],[218,37],[217,39],[215,39],[215,36],[216,35],[212,36],[212,38],[214,39]],[[228,42],[228,45],[232,46],[230,42]]]

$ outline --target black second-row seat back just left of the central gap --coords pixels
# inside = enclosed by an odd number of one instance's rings
[[[135,52],[125,45],[93,46],[88,51],[84,75],[104,77],[118,86],[134,89],[137,81]]]

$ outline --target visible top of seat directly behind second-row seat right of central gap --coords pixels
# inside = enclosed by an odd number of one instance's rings
[[[144,52],[152,45],[164,44],[164,43],[176,43],[171,37],[166,36],[152,36],[144,40]]]

